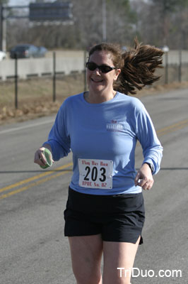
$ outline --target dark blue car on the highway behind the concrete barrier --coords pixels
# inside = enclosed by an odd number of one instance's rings
[[[43,46],[37,47],[31,44],[16,45],[10,51],[11,58],[42,58],[45,56],[47,49]]]

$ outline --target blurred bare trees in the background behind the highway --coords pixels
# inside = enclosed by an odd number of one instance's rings
[[[0,3],[8,4],[8,0]],[[102,0],[71,3],[72,24],[7,20],[7,49],[18,43],[44,45],[48,49],[88,49],[100,43]],[[106,0],[106,15],[107,42],[129,47],[137,36],[142,43],[168,45],[171,50],[188,49],[188,0]]]

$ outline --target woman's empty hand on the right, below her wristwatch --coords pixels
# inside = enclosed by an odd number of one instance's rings
[[[134,183],[135,185],[141,186],[143,190],[151,190],[151,187],[153,187],[153,182],[154,180],[151,173],[151,168],[148,166],[148,164],[144,163],[140,170],[138,170]]]

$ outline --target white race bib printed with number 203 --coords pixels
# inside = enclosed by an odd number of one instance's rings
[[[112,189],[112,160],[78,159],[78,169],[81,187]]]

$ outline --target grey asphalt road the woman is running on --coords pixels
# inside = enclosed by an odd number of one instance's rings
[[[144,192],[144,243],[139,246],[131,283],[187,283],[188,89],[141,101],[151,114],[164,155],[153,189]],[[33,163],[53,121],[54,116],[49,116],[0,126],[1,284],[76,283],[63,218],[71,155],[52,170]],[[138,146],[136,167],[141,162]]]

